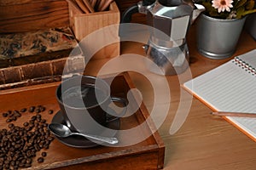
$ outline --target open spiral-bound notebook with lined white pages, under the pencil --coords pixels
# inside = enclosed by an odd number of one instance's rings
[[[256,49],[183,84],[214,111],[256,113]],[[256,118],[224,117],[256,142]]]

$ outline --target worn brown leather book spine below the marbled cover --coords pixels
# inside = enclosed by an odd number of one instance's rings
[[[84,67],[84,56],[78,55],[0,69],[0,90],[58,82],[65,75],[83,73]]]

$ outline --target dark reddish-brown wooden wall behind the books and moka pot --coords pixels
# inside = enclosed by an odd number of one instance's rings
[[[137,0],[117,0],[120,14]],[[113,18],[119,22],[118,18]],[[69,23],[71,22],[71,23]],[[66,0],[3,0],[0,1],[0,33],[35,31],[61,26],[73,26],[69,21]],[[134,14],[132,22],[146,23],[144,14]]]

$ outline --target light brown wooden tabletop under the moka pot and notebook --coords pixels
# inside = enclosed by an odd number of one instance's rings
[[[234,56],[246,53],[256,48],[256,42],[247,32],[242,32],[236,54],[229,59],[207,59],[199,54],[195,47],[195,25],[191,26],[188,36],[190,53],[190,71],[196,77],[212,68],[223,64]],[[122,42],[122,54],[144,55],[142,44],[136,42]],[[93,61],[88,65],[88,74],[95,74],[107,60]],[[153,108],[153,89],[142,75],[131,72],[131,79],[137,89],[143,94],[143,102],[148,111]],[[177,113],[180,102],[180,87],[177,76],[166,76],[169,82],[171,103],[157,101],[157,107],[164,108],[171,104],[165,122],[160,126],[159,133],[166,145],[164,169],[193,170],[193,169],[252,169],[256,168],[256,143],[241,133],[236,127],[222,118],[213,118],[211,110],[199,100],[193,99],[189,108],[189,116],[177,133],[170,134],[173,118]],[[186,93],[186,92],[185,92]],[[165,93],[163,92],[163,94]],[[187,108],[179,108],[187,111]]]

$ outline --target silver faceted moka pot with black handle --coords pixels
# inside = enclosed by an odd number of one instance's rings
[[[161,72],[149,66],[149,70],[163,75],[176,75],[189,67],[189,48],[186,35],[192,22],[204,11],[191,0],[143,0],[127,8],[121,22],[131,21],[135,13],[146,14],[151,31],[148,44],[143,48],[148,59],[154,61]],[[161,33],[160,33],[161,32]]]

